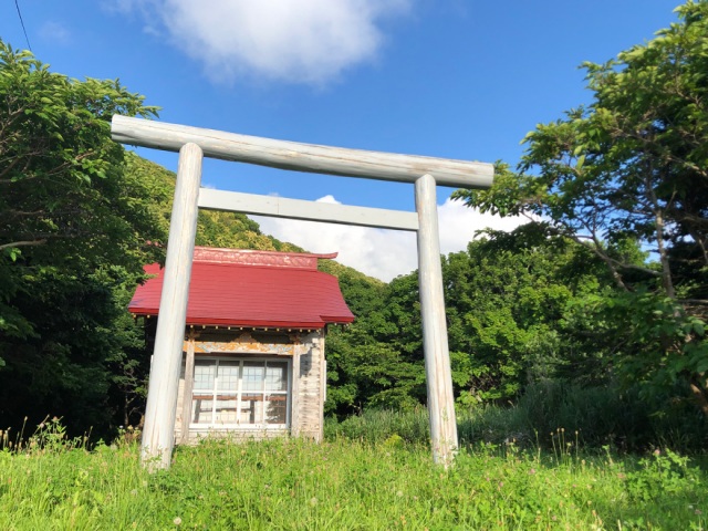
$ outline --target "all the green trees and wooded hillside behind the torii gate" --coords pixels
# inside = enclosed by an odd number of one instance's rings
[[[458,192],[533,219],[441,258],[461,407],[532,393],[551,410],[592,389],[598,419],[633,409],[647,433],[678,419],[670,429],[706,444],[708,2],[679,15],[584,65],[593,103],[539,125],[490,190]],[[164,258],[174,189],[110,139],[110,119],[156,110],[2,42],[0,71],[0,426],[49,414],[108,436],[143,407],[149,353],[126,305],[142,266]],[[197,244],[299,250],[217,212],[200,212]],[[357,316],[327,337],[326,413],[424,404],[416,274],[322,269]]]

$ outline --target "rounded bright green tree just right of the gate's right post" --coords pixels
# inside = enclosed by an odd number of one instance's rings
[[[487,231],[444,261],[450,353],[462,402],[511,399],[530,382],[597,384],[602,348],[569,308],[607,284],[582,246],[543,225]],[[584,331],[584,332],[581,332]],[[455,371],[455,365],[458,365]]]

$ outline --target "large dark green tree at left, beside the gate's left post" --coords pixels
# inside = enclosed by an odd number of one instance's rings
[[[46,414],[77,431],[111,425],[131,335],[116,326],[119,293],[165,241],[154,183],[128,170],[111,117],[155,111],[118,81],[70,80],[0,41],[4,426]]]

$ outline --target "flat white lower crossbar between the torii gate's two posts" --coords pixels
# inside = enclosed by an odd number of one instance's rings
[[[210,188],[201,188],[199,190],[199,207],[211,210],[271,216],[273,218],[305,219],[383,229],[418,230],[418,216],[415,212],[285,199]]]

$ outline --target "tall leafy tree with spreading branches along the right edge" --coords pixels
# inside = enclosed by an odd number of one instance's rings
[[[617,374],[683,382],[708,415],[708,2],[677,11],[650,42],[584,65],[593,103],[529,133],[518,173],[499,165],[491,190],[457,195],[541,217],[598,257],[621,293],[586,311],[615,323]]]

